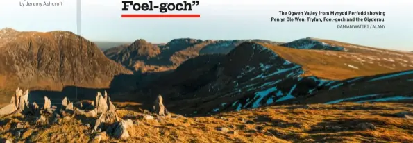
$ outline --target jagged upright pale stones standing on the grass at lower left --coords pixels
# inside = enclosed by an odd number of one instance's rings
[[[62,105],[58,109],[58,107],[51,105],[51,100],[47,96],[44,96],[44,105],[40,108],[37,106],[37,103],[28,102],[28,95],[29,90],[23,93],[20,88],[17,88],[16,94],[12,96],[10,104],[0,109],[0,117],[14,114],[35,115],[35,123],[45,123],[47,120],[45,115],[54,115],[54,122],[58,121],[59,117],[71,119],[75,117],[75,115],[83,115],[85,117],[96,118],[94,126],[90,127],[90,133],[97,133],[97,139],[101,138],[100,133],[108,133],[121,139],[130,136],[126,129],[133,126],[134,122],[130,119],[123,120],[118,117],[117,109],[110,100],[107,92],[104,92],[104,95],[97,92],[95,100],[92,101],[92,105],[90,105],[87,110],[83,109],[80,101],[73,103],[67,99],[67,97],[62,100]],[[169,112],[162,102],[162,96],[159,95],[153,106],[153,113],[158,116],[158,119],[169,115]],[[153,116],[145,115],[144,119],[151,120]]]

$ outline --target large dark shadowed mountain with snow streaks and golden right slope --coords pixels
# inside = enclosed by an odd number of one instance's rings
[[[243,42],[225,56],[187,60],[137,93],[162,94],[170,110],[185,115],[290,103],[413,101],[412,53],[341,43],[344,52],[330,45],[339,42],[323,42],[323,49]]]

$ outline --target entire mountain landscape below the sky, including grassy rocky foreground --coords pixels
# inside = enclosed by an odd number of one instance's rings
[[[314,37],[117,44],[1,29],[0,141],[413,142],[409,51]]]

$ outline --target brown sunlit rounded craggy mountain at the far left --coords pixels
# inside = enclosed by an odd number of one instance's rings
[[[96,47],[67,31],[0,30],[0,89],[107,88],[119,74],[132,74]],[[10,98],[1,98],[10,102]]]

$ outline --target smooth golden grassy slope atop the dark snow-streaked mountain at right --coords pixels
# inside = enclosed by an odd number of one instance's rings
[[[321,51],[312,49],[292,49],[281,47],[273,44],[264,44],[257,42],[264,47],[267,47],[282,58],[303,66],[305,73],[303,76],[317,76],[319,78],[329,80],[344,80],[357,76],[373,76],[376,74],[385,74],[390,72],[400,72],[413,67],[398,67],[389,69],[376,64],[363,64],[351,58],[352,55],[362,56],[358,53],[347,53],[342,51]],[[364,56],[368,56],[365,55]],[[386,61],[382,65],[389,65]],[[359,69],[353,69],[348,65],[353,65]]]

